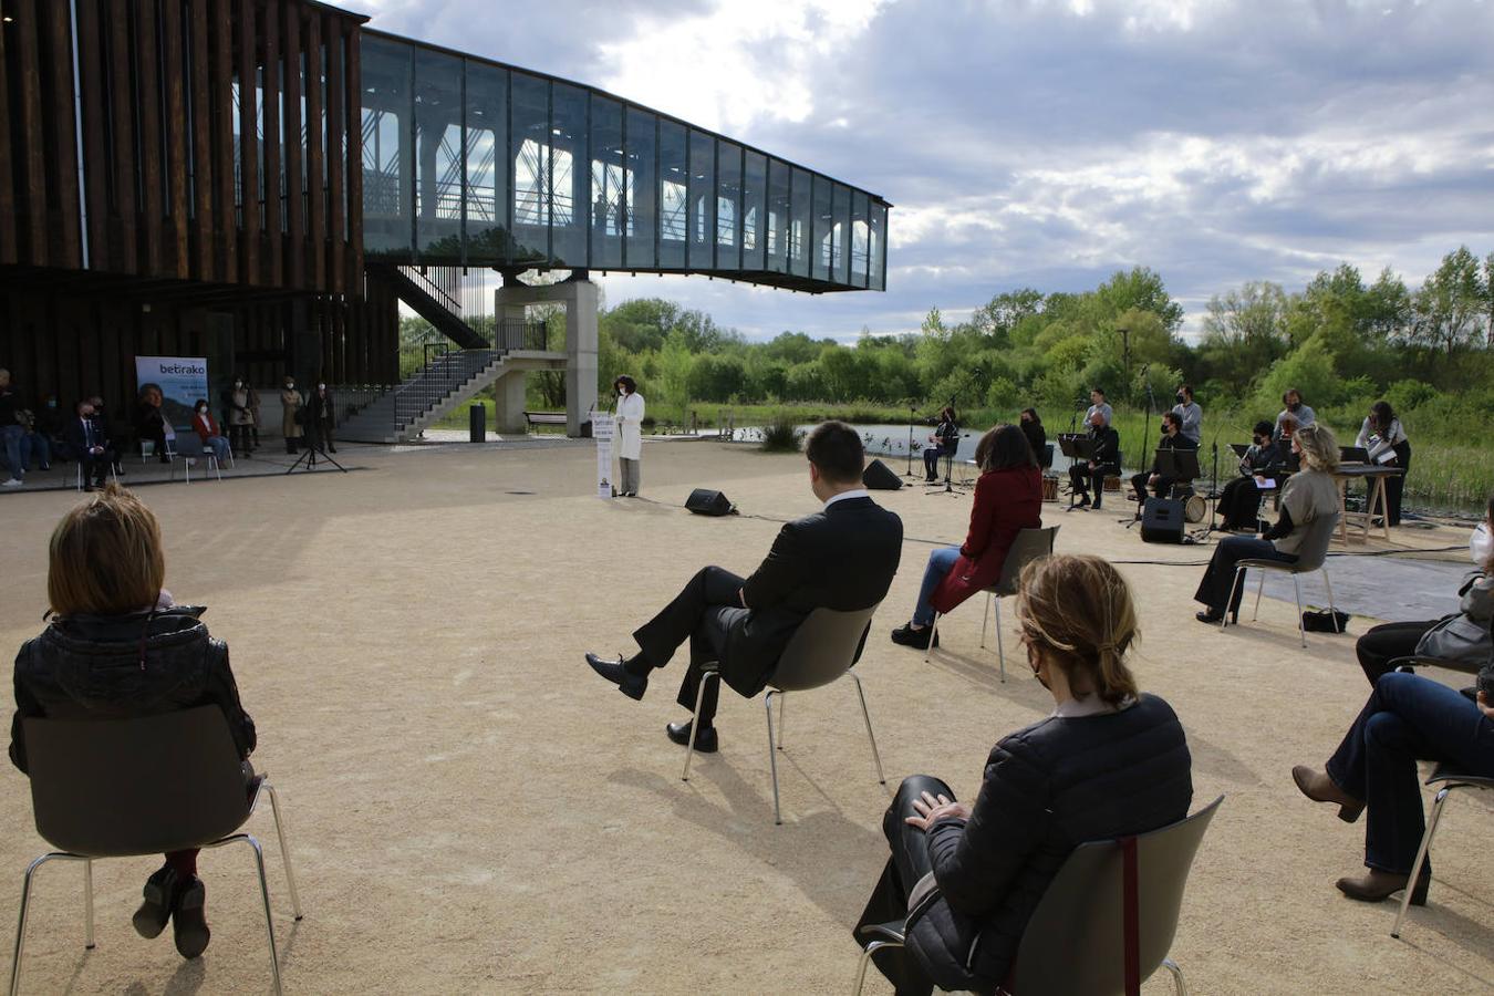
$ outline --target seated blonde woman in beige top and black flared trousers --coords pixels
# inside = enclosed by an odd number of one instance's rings
[[[1339,441],[1327,426],[1303,426],[1292,433],[1292,451],[1301,457],[1301,473],[1294,473],[1282,487],[1282,509],[1276,526],[1261,535],[1227,536],[1215,547],[1209,569],[1204,570],[1194,600],[1204,605],[1197,614],[1200,623],[1218,623],[1225,612],[1240,614],[1245,581],[1234,584],[1236,564],[1242,560],[1279,560],[1295,563],[1297,551],[1307,536],[1307,527],[1319,515],[1337,515],[1339,485],[1333,472],[1339,469]],[[1234,593],[1231,600],[1230,593]]]

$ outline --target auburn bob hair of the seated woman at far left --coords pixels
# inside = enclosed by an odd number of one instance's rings
[[[58,615],[125,615],[155,605],[166,581],[161,526],[115,482],[52,530],[46,599]]]

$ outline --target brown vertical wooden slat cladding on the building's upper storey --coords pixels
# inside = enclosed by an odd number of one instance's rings
[[[0,266],[360,293],[363,18],[306,0],[4,10]]]

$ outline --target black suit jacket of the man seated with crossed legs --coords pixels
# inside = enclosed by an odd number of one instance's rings
[[[901,555],[902,520],[870,497],[841,499],[786,523],[743,585],[748,611],[728,629],[722,679],[756,696],[810,612],[850,612],[881,602]]]

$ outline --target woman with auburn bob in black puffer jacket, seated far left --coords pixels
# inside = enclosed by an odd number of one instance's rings
[[[10,762],[27,771],[22,720],[123,720],[217,705],[254,772],[254,720],[239,703],[229,648],[161,587],[161,530],[139,499],[117,484],[72,509],[52,533],[46,594],[51,624],[15,659]],[[197,957],[208,947],[206,891],[197,850],[172,851],[145,883],[134,929],[154,938],[170,920],[176,950]]]

